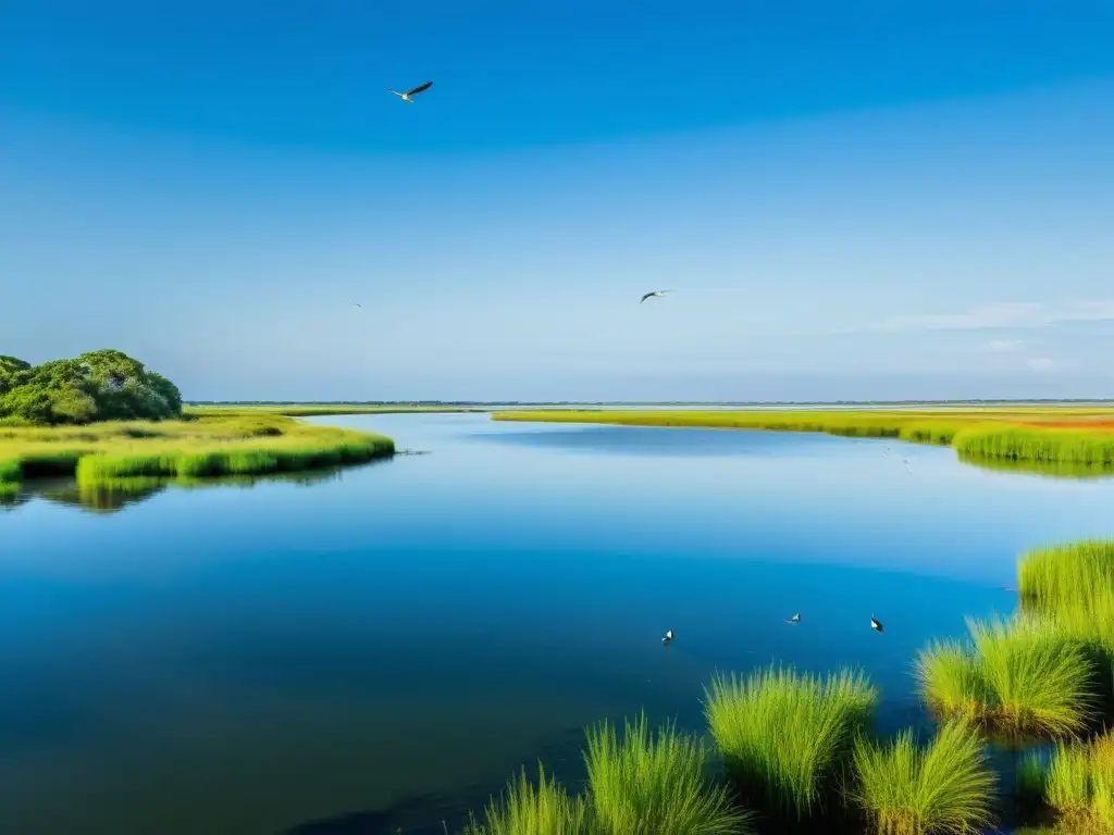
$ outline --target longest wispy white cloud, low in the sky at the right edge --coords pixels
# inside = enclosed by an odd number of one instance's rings
[[[959,313],[897,316],[879,322],[870,331],[983,331],[991,328],[1048,327],[1067,322],[1114,321],[1114,299],[997,302]]]

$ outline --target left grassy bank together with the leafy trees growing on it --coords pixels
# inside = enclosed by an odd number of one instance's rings
[[[119,351],[32,366],[0,357],[0,495],[40,477],[79,484],[128,478],[195,480],[355,464],[394,453],[369,432],[295,414],[331,411],[188,409],[174,383]]]

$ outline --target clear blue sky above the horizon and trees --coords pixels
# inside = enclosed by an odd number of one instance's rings
[[[1112,43],[1103,0],[9,0],[0,353],[192,399],[1114,396]]]

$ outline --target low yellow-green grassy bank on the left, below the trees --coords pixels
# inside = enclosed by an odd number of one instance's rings
[[[0,429],[0,483],[49,475],[79,482],[290,472],[391,455],[394,442],[290,416],[227,412],[184,421]]]

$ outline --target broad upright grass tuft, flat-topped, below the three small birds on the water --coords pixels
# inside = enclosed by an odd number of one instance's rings
[[[716,675],[705,715],[744,797],[803,821],[834,795],[877,699],[857,671],[815,677],[771,667],[744,679]]]

